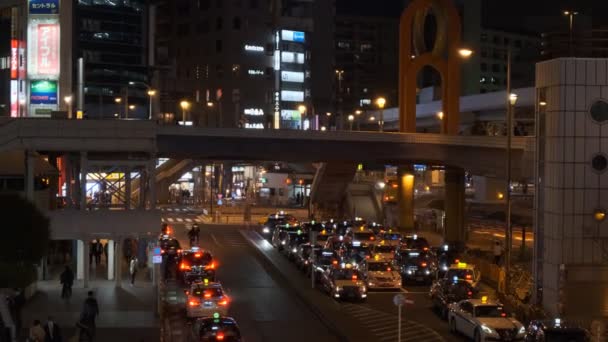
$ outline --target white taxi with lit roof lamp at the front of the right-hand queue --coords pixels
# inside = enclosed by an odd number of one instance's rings
[[[475,342],[524,341],[526,335],[523,324],[486,296],[450,304],[448,323],[450,332],[461,333]]]

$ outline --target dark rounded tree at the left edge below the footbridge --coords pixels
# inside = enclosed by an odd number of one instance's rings
[[[49,219],[17,194],[0,194],[0,208],[5,222],[0,238],[0,262],[39,263],[49,245]]]

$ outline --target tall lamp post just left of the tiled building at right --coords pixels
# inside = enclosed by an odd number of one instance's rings
[[[511,225],[511,140],[513,135],[513,108],[517,103],[517,94],[511,93],[511,48],[507,51],[507,189],[506,189],[506,232],[505,232],[505,292],[511,282],[511,250],[513,227]],[[524,237],[525,243],[525,237]]]

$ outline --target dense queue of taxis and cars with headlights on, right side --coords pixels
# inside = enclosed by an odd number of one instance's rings
[[[301,223],[284,213],[270,215],[260,233],[336,300],[364,301],[371,290],[430,284],[433,309],[450,331],[476,342],[588,341],[584,329],[560,320],[534,321],[526,328],[501,303],[479,296],[481,273],[475,265],[416,234],[362,220]]]

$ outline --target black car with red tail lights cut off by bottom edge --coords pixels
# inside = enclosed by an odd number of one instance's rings
[[[188,341],[190,342],[241,342],[241,330],[234,318],[230,317],[206,317],[199,318],[192,324]]]

